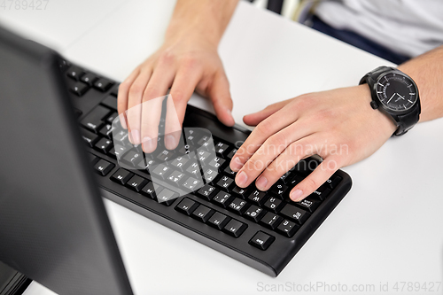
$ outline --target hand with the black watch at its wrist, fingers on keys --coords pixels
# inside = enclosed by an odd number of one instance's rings
[[[323,162],[292,188],[299,201],[340,167],[369,157],[392,136],[396,127],[370,105],[367,85],[311,93],[269,105],[246,115],[257,126],[230,162],[236,183],[246,187],[255,179],[259,190],[268,190],[300,159],[313,154]]]

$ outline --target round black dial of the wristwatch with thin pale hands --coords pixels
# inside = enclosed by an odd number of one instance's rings
[[[389,110],[407,111],[417,101],[416,84],[406,75],[387,73],[377,81],[377,97]]]

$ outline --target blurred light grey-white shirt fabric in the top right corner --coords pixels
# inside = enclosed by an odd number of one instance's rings
[[[315,14],[409,57],[443,44],[442,0],[323,1]]]

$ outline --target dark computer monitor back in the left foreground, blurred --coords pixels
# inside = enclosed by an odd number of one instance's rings
[[[131,294],[58,61],[0,27],[0,260],[59,294]]]

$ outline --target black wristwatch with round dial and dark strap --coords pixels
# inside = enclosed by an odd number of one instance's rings
[[[420,119],[421,106],[416,82],[400,70],[379,66],[361,78],[368,83],[372,101],[370,106],[389,116],[397,125],[392,136],[402,136]]]

